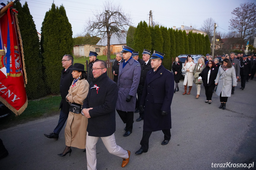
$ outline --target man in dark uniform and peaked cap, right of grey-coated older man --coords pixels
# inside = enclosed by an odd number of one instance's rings
[[[247,55],[243,55],[243,60],[240,61],[240,76],[241,76],[241,88],[244,90],[247,76],[252,73],[252,63],[247,59]]]

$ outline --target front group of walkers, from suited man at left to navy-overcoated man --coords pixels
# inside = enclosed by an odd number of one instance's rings
[[[89,53],[88,74],[83,64],[73,64],[71,55],[63,56],[60,117],[53,132],[44,136],[58,140],[67,121],[66,147],[59,156],[70,156],[71,147],[83,149],[88,170],[96,170],[96,143],[101,138],[109,153],[123,158],[121,166],[125,167],[131,152],[115,142],[116,111],[125,124],[123,136],[127,137],[133,130],[136,103],[139,105],[139,118],[136,121],[144,122],[141,147],[136,154],[148,151],[149,138],[153,131],[162,130],[164,137],[161,145],[168,144],[171,138],[174,76],[162,65],[163,53],[154,51],[151,55],[150,50],[144,49],[141,60],[139,52],[123,46],[112,65],[112,81],[107,75],[106,63],[98,60],[97,55],[96,52]],[[182,66],[181,62],[179,64]]]

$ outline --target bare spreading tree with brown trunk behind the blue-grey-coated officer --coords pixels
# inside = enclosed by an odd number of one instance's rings
[[[115,34],[120,40],[124,38],[122,31],[127,32],[131,23],[129,14],[123,12],[120,4],[106,1],[104,9],[94,13],[95,18],[89,19],[86,23],[85,32],[92,36],[107,37],[107,58],[110,59],[110,38]]]

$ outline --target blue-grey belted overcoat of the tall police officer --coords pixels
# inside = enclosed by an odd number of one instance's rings
[[[125,60],[119,65],[118,74],[118,98],[116,109],[126,112],[133,112],[136,104],[136,93],[139,86],[139,78],[141,72],[140,63],[133,58],[123,68]],[[126,102],[128,95],[133,96],[130,102]]]

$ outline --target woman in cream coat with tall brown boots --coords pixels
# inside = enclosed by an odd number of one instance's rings
[[[185,77],[184,77],[184,82],[183,85],[185,87],[185,92],[184,94],[190,94],[190,91],[192,89],[193,86],[193,80],[194,80],[194,73],[193,70],[195,68],[195,64],[193,63],[193,58],[191,57],[191,55],[188,55],[188,62],[187,64],[183,67],[185,70]],[[189,91],[187,93],[187,86],[189,86]]]

